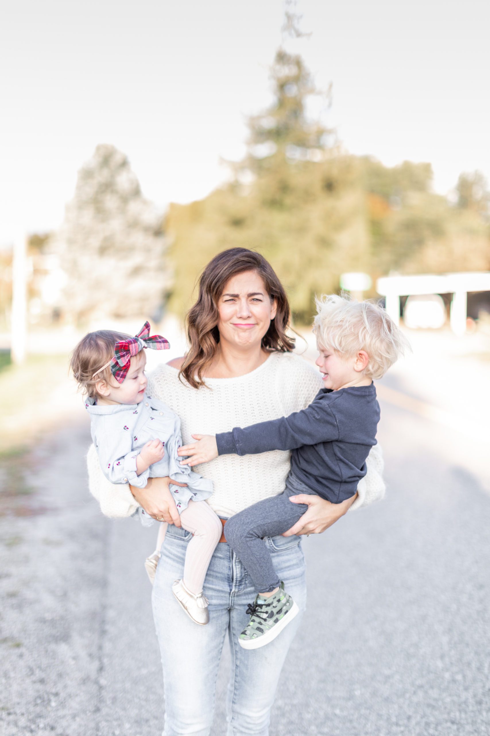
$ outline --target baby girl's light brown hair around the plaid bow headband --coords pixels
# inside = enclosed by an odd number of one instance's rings
[[[96,398],[98,397],[97,381],[110,383],[112,379],[111,367],[107,366],[104,370],[100,369],[114,355],[116,342],[126,340],[129,337],[125,332],[115,332],[114,330],[97,330],[82,337],[73,353],[71,353],[70,367],[75,381],[79,384],[84,395]],[[94,375],[96,372],[97,375]]]

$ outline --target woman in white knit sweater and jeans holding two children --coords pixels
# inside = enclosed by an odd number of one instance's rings
[[[292,354],[288,324],[286,294],[262,255],[232,248],[210,261],[201,275],[198,301],[187,316],[189,352],[156,369],[148,383],[148,393],[181,417],[184,443],[191,441],[192,433],[215,434],[308,406],[322,385],[320,373]],[[255,593],[226,541],[217,545],[204,584],[209,624],[195,626],[176,605],[171,591],[173,581],[182,576],[189,533],[180,528],[167,479],[151,479],[145,489],[131,489],[131,495],[129,486],[106,481],[90,450],[90,489],[107,515],[129,515],[140,505],[155,519],[173,524],[167,531],[153,590],[165,683],[164,736],[209,736],[226,634],[232,656],[228,735],[267,736],[278,677],[306,604],[300,535],[325,531],[351,506],[383,495],[383,482],[376,472],[382,464],[378,452],[376,448],[370,456],[368,474],[355,497],[331,504],[320,497],[298,495],[295,503],[307,503],[308,511],[286,535],[267,540],[278,576],[298,603],[300,615],[270,645],[250,651],[238,645],[238,637]],[[197,470],[212,479],[214,492],[209,503],[226,519],[282,492],[289,453],[220,456]]]

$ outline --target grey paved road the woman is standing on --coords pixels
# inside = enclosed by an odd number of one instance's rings
[[[386,500],[304,540],[309,609],[270,736],[490,734],[490,495],[452,428],[382,412]],[[88,442],[84,424],[35,447],[15,515],[0,518],[4,736],[161,733],[142,567],[154,531],[98,512]],[[226,733],[227,662],[213,736]]]

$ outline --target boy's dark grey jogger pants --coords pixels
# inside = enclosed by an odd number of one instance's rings
[[[280,580],[264,537],[276,537],[291,528],[307,511],[306,503],[292,503],[291,496],[317,495],[294,476],[288,475],[286,488],[278,496],[253,503],[225,524],[228,545],[251,576],[257,592],[270,592]]]

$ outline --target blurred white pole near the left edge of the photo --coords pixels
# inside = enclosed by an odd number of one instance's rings
[[[27,348],[27,238],[19,233],[15,238],[12,258],[12,363],[20,365],[26,359]]]

